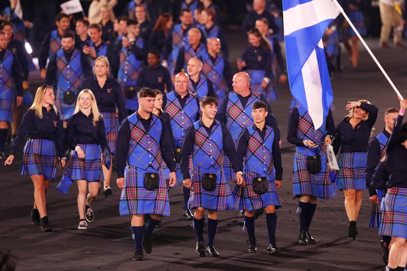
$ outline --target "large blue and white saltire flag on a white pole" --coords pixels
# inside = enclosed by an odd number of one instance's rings
[[[333,101],[322,36],[339,13],[332,0],[283,0],[289,86],[315,130],[324,124]]]

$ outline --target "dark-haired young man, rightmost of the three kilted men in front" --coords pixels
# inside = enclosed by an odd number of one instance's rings
[[[237,162],[243,165],[244,187],[235,185],[232,194],[240,210],[245,210],[244,227],[249,235],[247,252],[256,253],[254,235],[254,211],[266,209],[267,230],[269,233],[268,254],[279,253],[275,233],[277,225],[276,208],[281,207],[281,199],[276,188],[281,187],[282,166],[280,144],[273,128],[266,125],[267,104],[258,101],[253,104],[254,124],[240,134],[237,145]]]

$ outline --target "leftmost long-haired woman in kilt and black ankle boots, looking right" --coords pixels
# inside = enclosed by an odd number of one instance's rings
[[[33,105],[25,112],[5,165],[11,165],[18,147],[27,135],[23,150],[21,175],[30,175],[34,184],[34,207],[31,223],[41,224],[42,231],[52,231],[46,210],[49,181],[55,177],[56,157],[65,166],[64,131],[54,105],[55,95],[48,85],[38,87]],[[56,145],[56,148],[55,148]]]

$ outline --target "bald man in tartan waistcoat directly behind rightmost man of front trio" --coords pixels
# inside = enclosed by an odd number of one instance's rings
[[[219,107],[216,119],[221,124],[226,125],[235,146],[242,131],[253,125],[251,110],[253,104],[258,101],[263,101],[267,104],[266,125],[273,128],[275,136],[280,138],[280,130],[277,127],[277,121],[271,111],[271,107],[263,95],[250,89],[249,75],[245,72],[239,72],[235,74],[232,81],[234,92],[226,94],[223,104]],[[227,180],[234,178],[231,164],[227,157],[224,157],[223,160],[223,170]]]

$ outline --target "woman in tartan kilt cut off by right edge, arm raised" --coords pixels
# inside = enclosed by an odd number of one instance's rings
[[[389,252],[389,270],[404,270],[407,252],[407,124],[402,124],[407,100],[400,101],[400,112],[386,147],[391,172],[387,193],[382,202],[379,235],[393,237]]]

